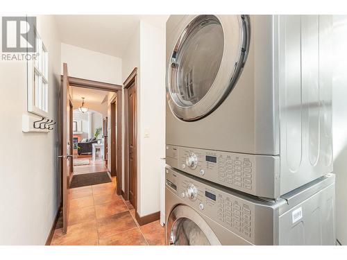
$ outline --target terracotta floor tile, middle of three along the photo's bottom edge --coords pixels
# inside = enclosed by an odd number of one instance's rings
[[[99,245],[147,245],[147,243],[139,228],[135,227],[126,232],[99,239]]]

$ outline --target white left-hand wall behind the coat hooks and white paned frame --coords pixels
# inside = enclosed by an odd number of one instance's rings
[[[60,39],[54,17],[38,16],[37,29],[49,52],[49,117],[58,121]],[[7,136],[0,149],[0,245],[44,245],[58,210],[58,125],[48,134],[22,132],[22,114],[28,114],[25,62],[0,62],[0,78],[0,135]]]

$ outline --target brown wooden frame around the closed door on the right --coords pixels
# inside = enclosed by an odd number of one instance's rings
[[[128,89],[131,87],[134,83],[135,92],[137,94],[137,67],[131,71],[128,78],[123,83],[124,86],[124,199],[129,200],[129,152],[128,152],[128,116],[129,116],[129,109],[128,109]],[[136,107],[135,111],[137,113],[137,96],[136,96]],[[137,117],[136,117],[137,120]],[[137,211],[137,127],[135,128],[135,137],[136,137],[136,153],[134,155],[135,157],[135,164],[136,164],[136,196],[135,196],[135,211]]]

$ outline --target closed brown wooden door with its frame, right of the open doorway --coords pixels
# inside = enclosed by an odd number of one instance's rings
[[[126,200],[137,210],[137,68],[124,82],[124,101]]]

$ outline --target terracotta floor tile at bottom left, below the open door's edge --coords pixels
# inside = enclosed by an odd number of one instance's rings
[[[96,220],[71,225],[67,234],[62,234],[62,228],[56,229],[51,245],[98,245]]]

